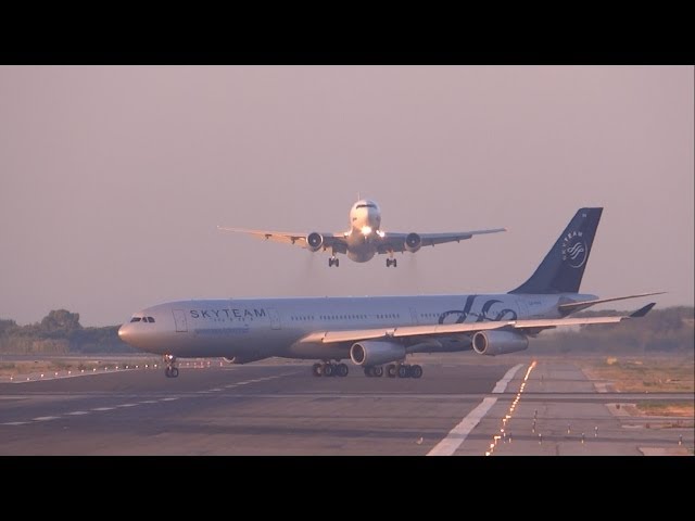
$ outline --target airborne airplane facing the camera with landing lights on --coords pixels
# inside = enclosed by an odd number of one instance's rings
[[[506,231],[506,228],[491,230],[456,231],[445,233],[399,233],[381,230],[381,209],[374,201],[361,199],[350,208],[350,229],[344,232],[290,232],[248,230],[244,228],[217,227],[222,231],[250,233],[257,238],[283,242],[302,246],[309,252],[331,251],[328,266],[340,266],[338,254],[348,255],[348,258],[356,263],[371,260],[376,254],[388,254],[387,268],[397,266],[397,259],[393,258],[396,252],[415,253],[422,246],[433,246],[445,242],[460,242],[473,236],[482,233],[497,233]]]

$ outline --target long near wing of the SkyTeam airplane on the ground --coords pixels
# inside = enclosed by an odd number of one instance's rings
[[[506,331],[519,331],[527,334],[535,334],[543,329],[552,329],[566,326],[582,326],[589,323],[615,323],[630,318],[639,318],[646,315],[655,303],[647,304],[636,312],[618,317],[586,317],[586,318],[542,318],[533,320],[500,320],[488,322],[464,323],[437,323],[428,326],[402,326],[397,328],[357,329],[350,331],[314,331],[302,340],[301,343],[340,343],[358,342],[362,340],[390,340],[414,336],[440,336],[458,333],[473,334],[478,331],[504,329]]]

